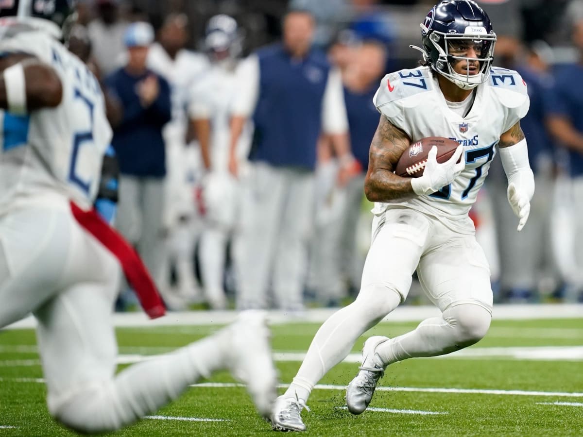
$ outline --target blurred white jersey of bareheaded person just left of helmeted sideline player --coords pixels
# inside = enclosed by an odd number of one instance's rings
[[[208,70],[208,58],[182,49],[172,59],[160,44],[155,43],[148,52],[147,65],[170,84],[172,119],[164,126],[164,141],[166,144],[184,145],[188,128],[189,89]]]

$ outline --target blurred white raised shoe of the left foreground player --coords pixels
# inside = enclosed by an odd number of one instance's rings
[[[277,396],[278,376],[271,357],[271,336],[264,311],[243,311],[229,330],[229,369],[247,385],[262,417],[271,415]]]

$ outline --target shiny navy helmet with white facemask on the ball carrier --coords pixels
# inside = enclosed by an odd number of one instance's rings
[[[420,24],[423,48],[411,46],[423,53],[423,60],[440,75],[462,89],[472,89],[486,82],[494,59],[496,33],[486,12],[472,0],[444,0],[427,13]],[[452,55],[473,45],[478,58]],[[457,51],[456,50],[456,51]],[[461,60],[479,61],[480,71],[470,75],[456,73],[453,65]]]

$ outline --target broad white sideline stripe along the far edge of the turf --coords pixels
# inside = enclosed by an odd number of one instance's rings
[[[268,311],[269,321],[279,323],[322,323],[338,308],[309,309],[301,316],[290,315],[284,311]],[[122,326],[177,326],[177,325],[225,325],[236,319],[237,311],[188,311],[168,312],[166,316],[150,320],[143,312],[115,313],[114,325]],[[537,305],[497,305],[494,306],[494,319],[579,319],[583,314],[583,304],[537,304]],[[433,305],[399,306],[389,314],[385,322],[419,322],[440,315]],[[35,327],[32,316],[3,329],[21,329]]]

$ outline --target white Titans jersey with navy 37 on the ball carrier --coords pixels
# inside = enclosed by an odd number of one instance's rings
[[[475,101],[462,117],[452,111],[429,67],[390,73],[374,96],[378,111],[415,142],[442,136],[463,145],[465,169],[455,181],[429,196],[401,203],[376,203],[373,212],[401,205],[435,216],[449,228],[473,232],[470,207],[484,183],[500,136],[526,115],[526,83],[515,71],[492,68],[487,82],[477,86]]]

